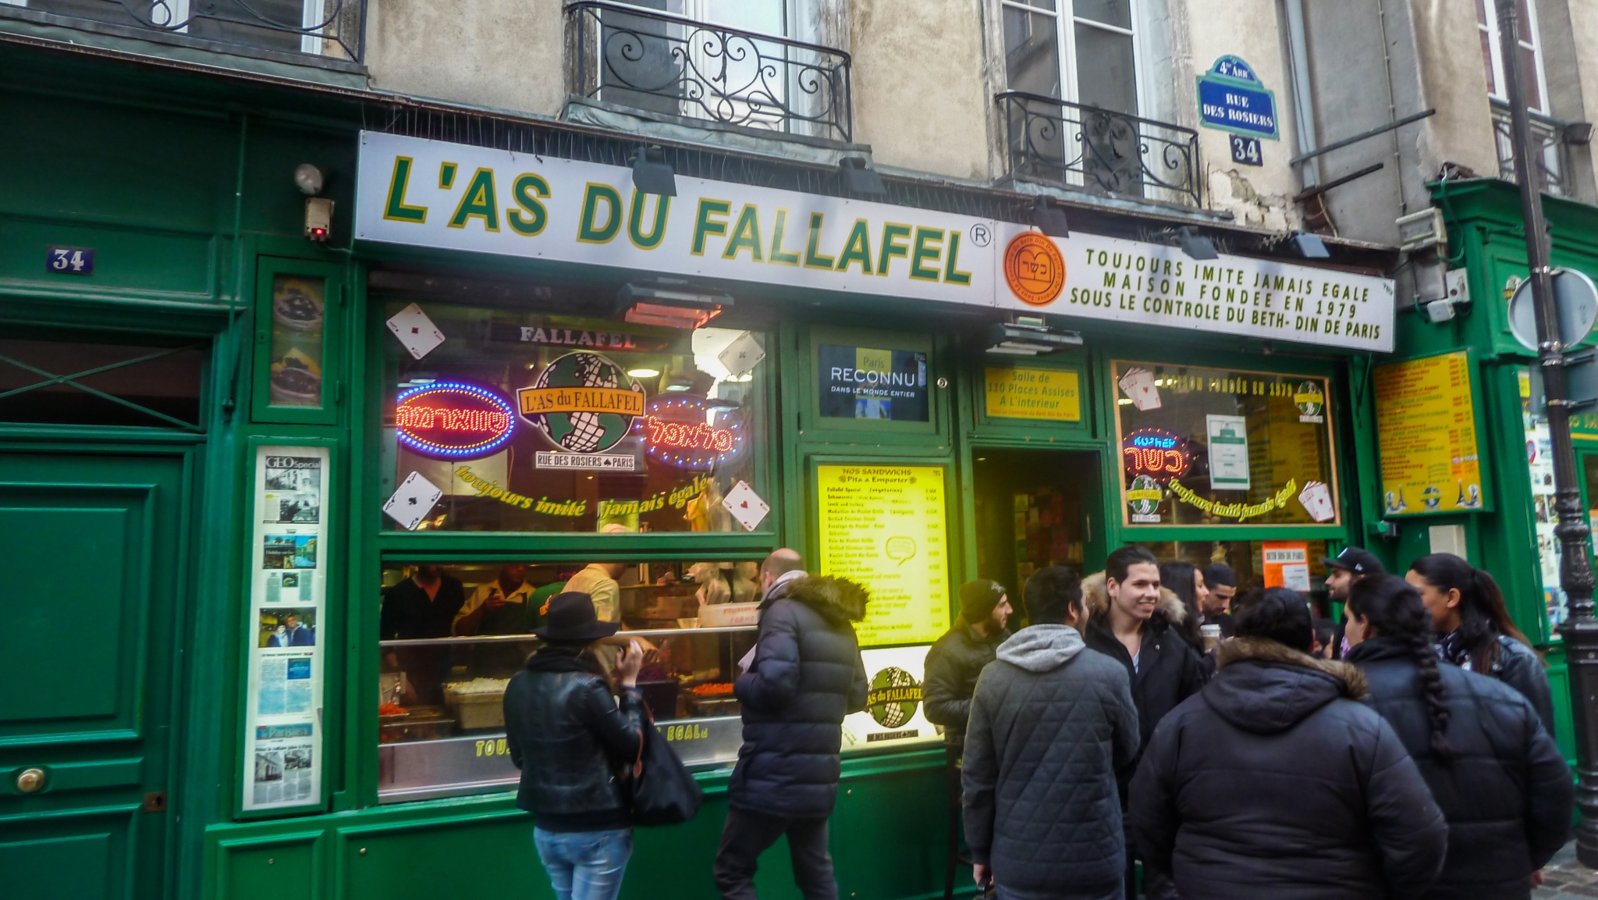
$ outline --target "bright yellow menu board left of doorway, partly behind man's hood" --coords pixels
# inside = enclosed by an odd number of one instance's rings
[[[941,465],[820,465],[818,574],[871,588],[860,646],[924,644],[949,628]]]

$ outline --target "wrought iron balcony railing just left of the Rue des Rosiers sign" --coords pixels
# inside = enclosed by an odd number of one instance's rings
[[[1066,187],[1198,206],[1198,133],[1059,98],[1005,91],[1010,174]]]

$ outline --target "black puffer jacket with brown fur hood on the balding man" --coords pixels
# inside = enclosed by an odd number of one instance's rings
[[[837,796],[844,716],[866,707],[866,667],[855,628],[858,587],[829,577],[775,585],[761,601],[754,662],[733,692],[743,747],[727,802],[793,818],[821,818]]]

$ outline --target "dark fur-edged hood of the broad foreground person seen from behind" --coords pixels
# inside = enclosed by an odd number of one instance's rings
[[[1315,659],[1262,638],[1232,638],[1216,651],[1219,673],[1202,697],[1227,723],[1254,734],[1286,731],[1326,703],[1366,695],[1352,665]]]

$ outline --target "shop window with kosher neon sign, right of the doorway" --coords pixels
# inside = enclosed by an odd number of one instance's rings
[[[1336,524],[1323,377],[1114,364],[1125,524]]]

